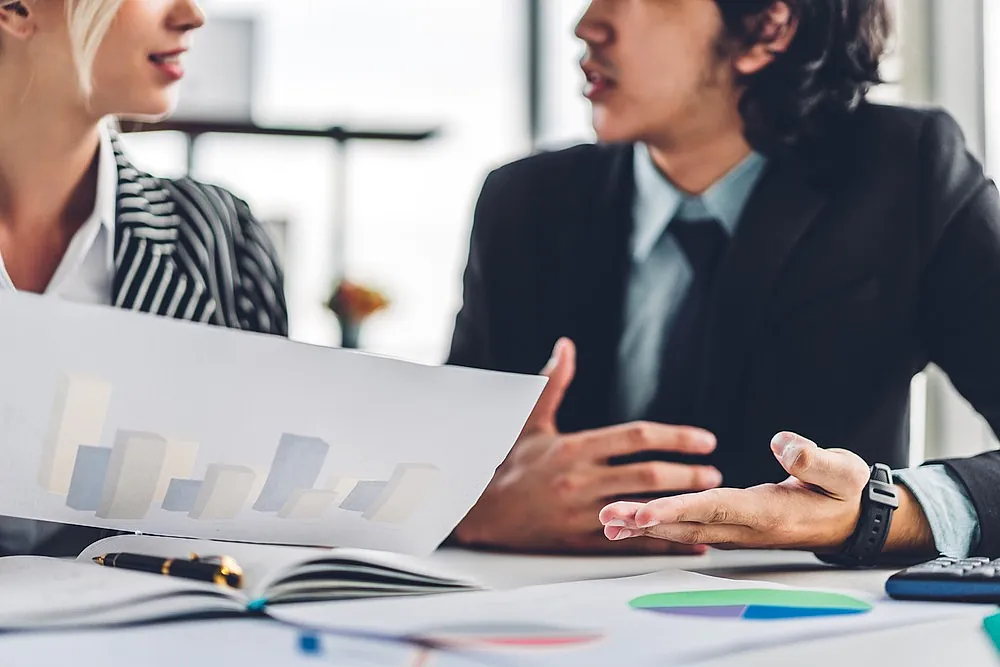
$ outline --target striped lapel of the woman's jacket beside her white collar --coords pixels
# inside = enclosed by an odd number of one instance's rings
[[[118,163],[116,307],[197,322],[217,316],[203,271],[181,242],[181,218],[163,181],[140,173],[112,138]]]

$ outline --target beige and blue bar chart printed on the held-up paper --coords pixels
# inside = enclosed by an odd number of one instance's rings
[[[196,476],[200,445],[193,438],[122,429],[111,447],[101,446],[112,394],[102,378],[62,376],[38,473],[38,483],[65,496],[67,507],[102,519],[138,520],[154,509],[195,521],[232,520],[244,511],[321,521],[346,512],[403,525],[441,479],[433,465],[405,462],[384,479],[335,471],[320,483],[334,448],[290,433],[281,435],[267,467],[212,461]]]

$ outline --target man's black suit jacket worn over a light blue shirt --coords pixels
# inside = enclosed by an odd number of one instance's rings
[[[486,180],[453,364],[537,373],[578,346],[563,430],[612,422],[632,230],[632,147],[536,155]],[[862,105],[808,155],[772,159],[711,307],[699,426],[728,486],[784,474],[792,430],[903,467],[913,375],[940,365],[1000,426],[1000,201],[940,111]],[[1000,454],[949,462],[1000,553]],[[992,509],[996,508],[996,509]]]

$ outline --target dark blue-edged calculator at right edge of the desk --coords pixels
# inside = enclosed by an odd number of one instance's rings
[[[941,556],[892,575],[885,592],[897,600],[1000,604],[1000,559]]]

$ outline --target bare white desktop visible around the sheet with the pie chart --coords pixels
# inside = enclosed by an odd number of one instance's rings
[[[811,554],[779,551],[710,551],[704,556],[546,557],[442,549],[432,559],[477,576],[497,588],[578,579],[625,577],[681,569],[730,579],[751,579],[816,588],[884,594],[895,570],[841,570]],[[624,661],[624,662],[627,662]],[[623,664],[624,664],[623,662]],[[975,618],[933,623],[870,635],[811,640],[699,663],[699,667],[1000,667],[1000,653]]]

